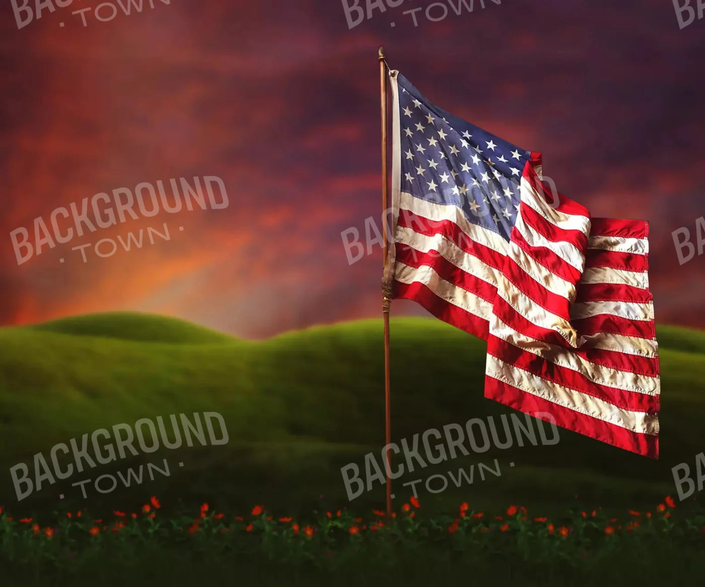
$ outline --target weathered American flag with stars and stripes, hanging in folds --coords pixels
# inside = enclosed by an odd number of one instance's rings
[[[390,78],[393,298],[487,341],[487,398],[658,458],[648,223],[591,218],[540,153]]]

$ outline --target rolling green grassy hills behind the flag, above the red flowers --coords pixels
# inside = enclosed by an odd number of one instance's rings
[[[704,450],[705,334],[659,327],[662,371],[661,459],[560,429],[554,446],[513,446],[471,454],[406,474],[402,484],[434,472],[501,463],[501,477],[448,489],[439,507],[462,495],[482,503],[587,503],[632,507],[675,495],[670,469],[694,468]],[[483,397],[485,343],[439,320],[391,321],[393,439],[431,427],[514,410]],[[225,446],[140,454],[45,486],[17,504],[9,467],[56,443],[137,419],[214,411],[226,421]],[[497,418],[496,418],[497,420]],[[79,503],[121,507],[157,494],[282,508],[319,500],[348,505],[340,467],[384,445],[384,357],[381,320],[362,320],[243,341],[168,317],[111,313],[0,329],[0,504],[59,507]],[[82,499],[71,484],[170,462],[171,476]],[[512,462],[514,465],[510,466]],[[179,466],[178,463],[183,463]],[[477,472],[476,472],[477,476]],[[159,477],[159,476],[158,476]],[[46,483],[45,483],[46,485]],[[422,485],[422,484],[421,484]],[[422,496],[431,496],[421,488]],[[59,501],[66,494],[66,501]],[[384,488],[352,507],[379,506]],[[122,501],[121,501],[122,500]],[[628,502],[628,503],[627,503]],[[454,502],[455,504],[455,502]],[[123,505],[123,507],[128,507]],[[453,505],[455,507],[455,505]]]

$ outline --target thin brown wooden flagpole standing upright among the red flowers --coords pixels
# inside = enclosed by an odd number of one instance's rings
[[[379,82],[381,91],[381,118],[382,118],[382,217],[386,222],[387,210],[387,65],[384,60],[384,47],[379,48]],[[387,266],[387,227],[382,227],[382,239],[384,242],[384,262],[383,270]],[[389,307],[391,305],[391,291],[388,286],[382,288],[382,315],[384,317],[384,438],[385,445],[391,444],[391,402],[390,402],[390,377],[389,377]],[[387,491],[387,517],[392,515],[392,480],[389,478],[391,472],[391,449],[386,450],[386,491]]]

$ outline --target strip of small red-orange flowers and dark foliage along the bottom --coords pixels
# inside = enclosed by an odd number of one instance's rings
[[[0,570],[16,581],[7,584],[18,585],[59,578],[74,585],[83,579],[173,585],[186,581],[187,564],[191,572],[200,569],[200,577],[238,569],[241,578],[249,577],[240,584],[355,577],[369,584],[390,574],[406,576],[404,584],[425,584],[470,572],[482,580],[565,585],[591,584],[580,582],[589,576],[615,580],[620,570],[633,577],[639,569],[651,579],[659,572],[673,578],[686,572],[684,565],[689,574],[705,569],[705,514],[679,513],[666,497],[653,511],[627,510],[622,517],[597,508],[548,519],[518,505],[479,512],[467,503],[454,516],[427,517],[410,498],[391,519],[378,510],[361,517],[336,510],[300,520],[262,505],[225,515],[204,503],[167,515],[153,497],[137,512],[116,510],[109,517],[56,512],[54,524],[0,510]]]

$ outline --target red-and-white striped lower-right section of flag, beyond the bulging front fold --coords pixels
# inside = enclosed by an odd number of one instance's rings
[[[494,315],[485,397],[634,453],[658,458],[660,377],[648,282],[648,229],[593,218],[570,308],[579,348],[537,344]]]

